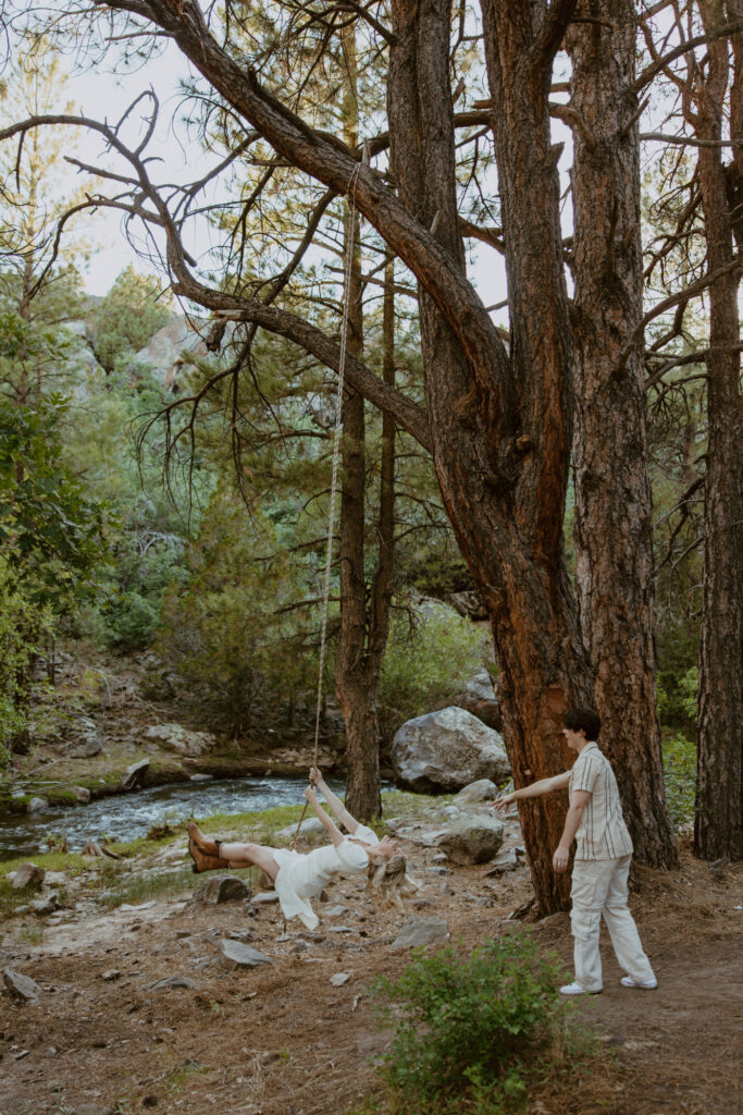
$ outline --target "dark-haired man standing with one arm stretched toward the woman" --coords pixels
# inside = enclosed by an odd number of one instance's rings
[[[619,966],[627,972],[622,983],[652,990],[658,982],[627,908],[632,840],[622,815],[614,770],[596,743],[602,721],[593,709],[579,708],[567,712],[563,724],[567,745],[578,755],[573,769],[506,794],[493,803],[493,808],[502,809],[511,802],[540,797],[555,789],[567,788],[570,795],[563,836],[553,856],[553,867],[563,874],[570,844],[576,840],[570,890],[575,981],[560,988],[563,995],[597,995],[603,988],[598,951],[602,914]]]

